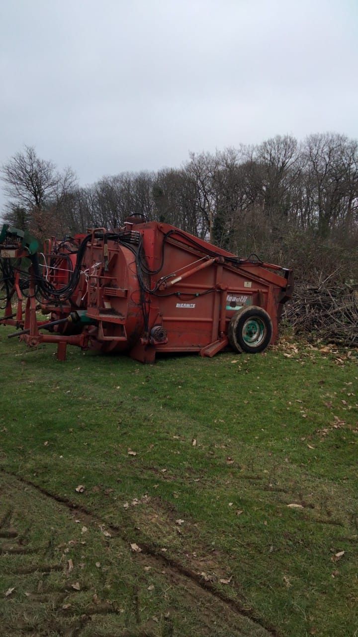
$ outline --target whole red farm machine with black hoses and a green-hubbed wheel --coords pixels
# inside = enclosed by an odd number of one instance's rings
[[[157,352],[262,352],[292,294],[289,269],[138,217],[113,231],[52,238],[43,253],[31,235],[4,225],[0,269],[0,324],[16,326],[10,338],[32,347],[57,343],[62,361],[67,345],[142,362]],[[39,320],[39,311],[50,317]]]

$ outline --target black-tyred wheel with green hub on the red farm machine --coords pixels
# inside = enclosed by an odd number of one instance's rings
[[[233,350],[258,354],[271,343],[273,328],[266,310],[250,305],[238,310],[231,317],[227,338]]]

